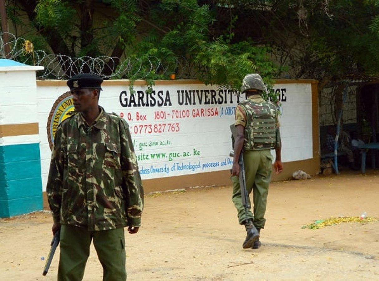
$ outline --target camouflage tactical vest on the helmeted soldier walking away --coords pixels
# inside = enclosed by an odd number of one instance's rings
[[[255,103],[245,100],[239,103],[246,114],[243,150],[264,150],[279,147],[279,128],[276,128],[277,108],[273,103]]]

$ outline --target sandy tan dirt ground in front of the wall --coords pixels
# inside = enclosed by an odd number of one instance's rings
[[[142,227],[126,233],[128,280],[378,280],[379,222],[303,229],[330,217],[379,217],[379,170],[272,183],[263,246],[244,250],[230,186],[148,194]],[[35,212],[0,220],[0,279],[47,276],[52,219]],[[101,280],[94,248],[84,280]]]

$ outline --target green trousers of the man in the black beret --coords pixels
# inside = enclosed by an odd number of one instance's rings
[[[103,281],[126,280],[124,228],[88,231],[81,226],[62,225],[58,281],[83,279],[92,239],[103,267]]]

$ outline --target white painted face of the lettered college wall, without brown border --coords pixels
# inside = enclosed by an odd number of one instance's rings
[[[234,110],[237,105],[235,95],[227,94],[227,100],[225,100],[225,93],[221,92],[221,98],[217,86],[205,86],[204,84],[157,85],[153,87],[153,90],[155,92],[163,91],[163,97],[168,94],[171,105],[123,107],[125,95],[121,96],[120,102],[121,92],[126,91],[126,97],[130,99],[126,81],[125,86],[122,85],[122,82],[117,84],[106,82],[102,85],[103,91],[100,94],[99,104],[107,112],[115,112],[124,116],[129,123],[143,179],[229,170],[231,168],[229,152],[232,145],[229,125],[234,122]],[[51,155],[47,139],[47,119],[55,100],[68,90],[63,83],[59,84],[61,86],[39,85],[37,88],[44,190]],[[290,162],[312,158],[311,84],[276,84],[274,88],[280,92],[282,97],[282,116],[280,117],[284,148],[282,150],[282,161]],[[195,94],[195,105],[180,105],[179,101],[182,99],[178,100],[177,92],[182,90],[203,91],[202,105],[199,104],[197,94]],[[204,105],[206,101],[205,90],[216,92],[213,99],[214,104]],[[146,87],[135,86],[135,91],[144,92]],[[138,97],[138,92],[136,97]],[[146,94],[144,97],[146,99]],[[207,98],[212,101],[210,93],[207,94]],[[232,103],[230,103],[230,98]],[[213,110],[214,112],[217,110],[218,114],[207,117],[193,116],[193,112],[196,114],[197,110],[201,112],[202,109],[205,111]],[[157,119],[157,112],[165,118]],[[187,112],[189,117],[183,117],[182,113],[187,114]],[[176,116],[177,114],[179,116]],[[137,120],[137,115],[144,116],[143,119],[146,116],[146,120]],[[149,132],[150,128],[151,132]],[[161,132],[154,132],[154,128],[157,130],[161,128]],[[169,131],[169,128],[174,128],[174,132]],[[275,154],[274,151],[273,154]],[[158,155],[160,159],[157,159]]]

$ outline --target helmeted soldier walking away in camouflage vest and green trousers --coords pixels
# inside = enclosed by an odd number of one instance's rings
[[[266,86],[259,74],[246,75],[241,89],[242,93],[246,93],[246,100],[238,104],[235,113],[234,125],[237,136],[234,140],[231,177],[232,201],[238,211],[238,221],[241,225],[245,225],[247,233],[243,248],[258,249],[261,245],[259,236],[266,222],[264,216],[273,163],[270,149],[274,148],[276,151],[275,172],[280,173],[283,170],[277,108],[273,103],[262,98],[261,92],[265,90]],[[245,212],[242,203],[238,178],[240,153],[243,153],[247,193],[250,194],[253,191],[253,212],[251,209]],[[248,205],[251,206],[250,203]]]

